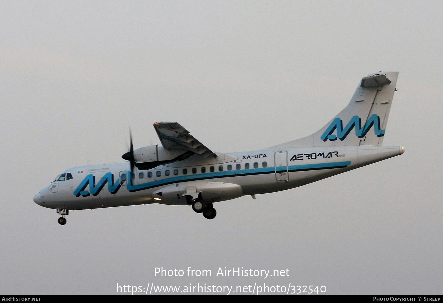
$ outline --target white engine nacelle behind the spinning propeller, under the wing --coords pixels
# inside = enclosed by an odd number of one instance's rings
[[[138,169],[150,169],[162,164],[186,159],[193,155],[192,151],[184,149],[166,149],[162,146],[151,145],[133,151],[133,159]]]

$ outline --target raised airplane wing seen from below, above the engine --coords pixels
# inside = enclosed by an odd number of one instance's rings
[[[177,122],[155,122],[155,131],[166,149],[186,149],[203,157],[213,155],[217,157],[214,151],[200,143],[197,139]]]

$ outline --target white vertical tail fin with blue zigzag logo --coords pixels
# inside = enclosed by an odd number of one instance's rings
[[[348,106],[314,134],[276,147],[381,146],[398,72],[362,78]]]

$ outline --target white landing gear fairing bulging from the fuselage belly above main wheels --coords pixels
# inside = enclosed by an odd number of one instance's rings
[[[161,199],[167,204],[186,204],[186,196],[202,198],[204,202],[220,202],[243,196],[241,186],[233,183],[190,181],[176,183],[156,190],[152,198]]]

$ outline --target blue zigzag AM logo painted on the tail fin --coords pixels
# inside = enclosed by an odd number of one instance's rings
[[[345,140],[346,136],[348,136],[355,127],[355,136],[361,139],[366,136],[372,126],[374,126],[374,133],[377,137],[385,136],[385,129],[380,129],[380,117],[373,114],[369,117],[363,127],[361,127],[361,119],[358,116],[352,117],[349,123],[346,124],[345,128],[343,128],[342,119],[335,118],[320,138],[325,142],[327,140],[335,141],[337,138]],[[337,130],[337,135],[332,134],[335,130]]]

